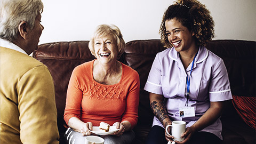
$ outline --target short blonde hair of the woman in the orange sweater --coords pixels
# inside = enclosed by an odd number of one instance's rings
[[[94,51],[94,39],[100,36],[106,36],[108,34],[113,35],[116,40],[118,50],[117,59],[119,59],[121,55],[124,53],[125,42],[123,39],[123,35],[121,34],[121,30],[115,25],[99,25],[94,31],[92,38],[90,39],[89,49],[92,55],[96,57]]]

